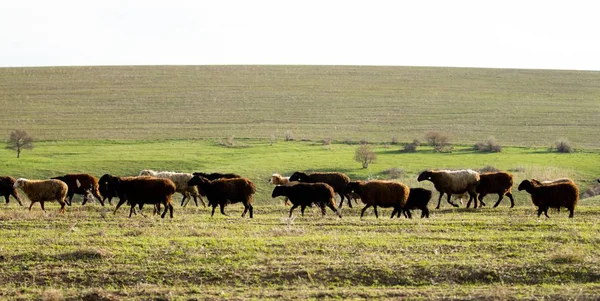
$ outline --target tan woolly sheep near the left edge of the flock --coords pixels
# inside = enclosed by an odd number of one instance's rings
[[[31,200],[31,205],[29,205],[29,211],[31,211],[31,207],[33,204],[39,202],[40,206],[42,206],[42,210],[46,211],[44,208],[44,202],[53,202],[58,201],[60,204],[60,213],[65,213],[65,199],[67,197],[67,191],[69,187],[65,182],[60,180],[27,180],[24,178],[19,178],[15,181],[13,185],[14,188],[20,188],[23,190],[25,195]]]

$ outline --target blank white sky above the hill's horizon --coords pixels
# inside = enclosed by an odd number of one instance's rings
[[[599,8],[576,0],[3,0],[0,66],[600,70]]]

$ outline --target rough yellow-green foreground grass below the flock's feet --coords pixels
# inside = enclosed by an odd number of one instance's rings
[[[173,220],[1,206],[0,297],[589,299],[600,288],[599,201],[574,219],[531,206],[413,220],[389,209],[361,220],[357,208],[288,219],[289,207],[261,202],[253,220],[239,205],[213,218],[177,207]]]

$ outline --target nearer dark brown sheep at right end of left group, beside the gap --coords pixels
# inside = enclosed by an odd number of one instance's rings
[[[252,181],[246,178],[218,179],[210,181],[201,176],[194,176],[188,185],[198,186],[208,199],[208,205],[213,207],[211,217],[215,215],[217,206],[221,207],[221,214],[225,213],[227,204],[242,203],[244,213],[250,211],[250,218],[253,218],[254,208],[252,207],[252,195],[256,192],[256,186]]]

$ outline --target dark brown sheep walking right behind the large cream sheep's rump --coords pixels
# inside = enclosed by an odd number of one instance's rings
[[[483,198],[490,194],[496,193],[498,194],[498,200],[496,204],[494,204],[494,208],[498,207],[500,201],[504,195],[506,195],[510,199],[510,208],[515,206],[515,200],[513,199],[513,195],[511,193],[511,188],[513,185],[513,176],[510,173],[506,172],[486,172],[479,175],[479,185],[475,191],[479,194],[478,199],[480,202],[480,206],[485,206],[483,202]],[[467,208],[470,206],[471,201],[467,203]]]

